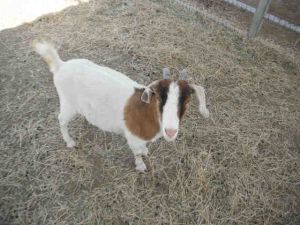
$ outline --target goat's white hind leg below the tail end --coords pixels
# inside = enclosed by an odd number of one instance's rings
[[[67,143],[67,147],[72,148],[76,145],[75,141],[71,138],[69,131],[68,131],[68,124],[75,116],[76,112],[67,103],[60,104],[60,113],[58,115],[60,130],[63,136],[64,141]]]

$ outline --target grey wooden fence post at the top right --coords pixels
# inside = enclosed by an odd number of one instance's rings
[[[262,20],[266,11],[268,10],[272,0],[260,0],[256,8],[255,14],[252,18],[251,26],[249,28],[248,37],[253,38],[260,30]]]

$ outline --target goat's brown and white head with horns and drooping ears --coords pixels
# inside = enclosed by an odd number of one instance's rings
[[[141,100],[149,103],[152,95],[155,95],[159,103],[161,130],[167,141],[173,141],[177,137],[179,124],[186,112],[191,95],[196,93],[200,102],[200,113],[204,117],[209,116],[205,103],[203,87],[188,83],[186,70],[180,73],[179,80],[170,79],[170,70],[163,69],[163,79],[152,82],[144,91]]]

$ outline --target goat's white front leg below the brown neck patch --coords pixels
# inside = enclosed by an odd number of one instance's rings
[[[146,141],[143,141],[129,133],[126,134],[126,139],[129,147],[132,150],[135,160],[135,169],[144,172],[147,167],[143,161],[142,155],[148,154],[148,149],[146,146]]]

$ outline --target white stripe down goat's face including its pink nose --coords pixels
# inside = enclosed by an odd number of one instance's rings
[[[167,93],[166,103],[162,109],[162,132],[167,141],[175,140],[179,131],[179,95],[180,89],[177,82],[171,82]]]

